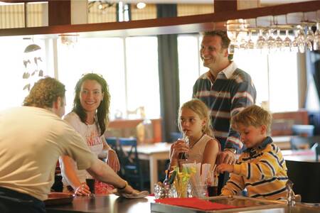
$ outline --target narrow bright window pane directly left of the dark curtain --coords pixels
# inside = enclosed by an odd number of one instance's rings
[[[160,117],[158,43],[155,36],[126,39],[127,106],[144,107],[146,117]]]

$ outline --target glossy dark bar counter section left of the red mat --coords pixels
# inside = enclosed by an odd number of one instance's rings
[[[154,197],[125,199],[116,195],[95,195],[95,197],[76,196],[72,203],[46,207],[48,213],[55,212],[151,212],[150,203]]]

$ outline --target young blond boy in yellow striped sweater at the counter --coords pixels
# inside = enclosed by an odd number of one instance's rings
[[[218,165],[218,173],[232,173],[221,195],[237,195],[247,188],[249,197],[286,199],[287,166],[280,149],[267,136],[271,121],[270,113],[256,105],[232,117],[231,125],[247,149],[235,165]]]

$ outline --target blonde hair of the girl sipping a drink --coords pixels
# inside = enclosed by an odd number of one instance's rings
[[[181,111],[182,109],[191,109],[194,111],[200,119],[204,119],[206,121],[205,126],[203,126],[202,132],[206,133],[208,136],[213,137],[213,130],[211,128],[211,119],[210,119],[210,110],[206,106],[205,103],[201,102],[199,99],[192,99],[191,101],[188,101],[180,107],[180,110],[178,112],[178,128],[182,133],[182,127],[181,127],[181,122],[180,122],[180,117],[181,117]]]

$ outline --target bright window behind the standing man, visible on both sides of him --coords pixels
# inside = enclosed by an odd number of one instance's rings
[[[202,66],[198,52],[199,35],[178,36],[180,103],[191,99],[196,79],[208,70]],[[187,45],[188,44],[188,45]],[[249,73],[257,89],[256,104],[268,104],[270,111],[299,109],[297,53],[248,53],[237,51],[234,61]],[[198,64],[201,64],[197,67]]]

